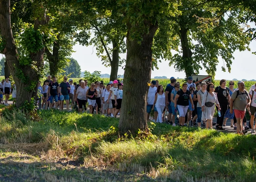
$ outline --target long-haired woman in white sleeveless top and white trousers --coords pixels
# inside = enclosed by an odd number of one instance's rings
[[[162,113],[165,107],[165,93],[163,91],[163,86],[159,85],[155,94],[155,101],[153,104],[153,109],[156,106],[156,110],[158,112],[158,116],[156,122],[162,123]]]

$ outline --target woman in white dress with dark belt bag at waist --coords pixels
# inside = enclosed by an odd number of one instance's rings
[[[217,95],[214,91],[214,85],[210,83],[207,86],[207,91],[203,95],[202,101],[202,120],[206,121],[206,128],[213,129],[213,115],[215,111],[215,104],[220,110]],[[215,104],[214,104],[215,103]]]

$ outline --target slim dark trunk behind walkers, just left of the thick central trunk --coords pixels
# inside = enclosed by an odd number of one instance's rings
[[[116,43],[113,43],[112,61],[110,63],[110,81],[114,81],[117,79],[117,72],[119,67],[119,47],[117,47]]]

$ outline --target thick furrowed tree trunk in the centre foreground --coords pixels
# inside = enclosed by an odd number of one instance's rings
[[[131,40],[131,25],[128,24],[122,114],[118,125],[121,134],[128,132],[134,135],[139,129],[147,130],[146,99],[152,68],[151,47],[158,25],[149,22],[145,25],[149,27],[149,33],[142,35],[143,40],[139,44],[139,40]]]

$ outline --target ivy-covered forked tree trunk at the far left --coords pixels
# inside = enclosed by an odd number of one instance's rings
[[[35,30],[46,23],[45,13],[46,10],[40,19],[35,20]],[[33,91],[37,90],[35,87],[39,80],[39,71],[43,69],[44,49],[30,53],[30,58],[36,69],[31,66],[21,66],[11,27],[10,0],[0,0],[0,29],[2,38],[6,41],[3,53],[17,87],[16,106],[21,107],[25,101],[31,101]]]

